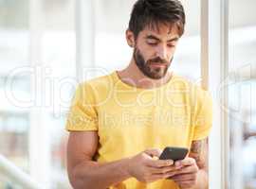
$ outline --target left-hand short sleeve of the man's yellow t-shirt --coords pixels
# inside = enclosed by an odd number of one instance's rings
[[[88,83],[78,86],[67,113],[68,131],[98,130],[98,113],[93,90]]]

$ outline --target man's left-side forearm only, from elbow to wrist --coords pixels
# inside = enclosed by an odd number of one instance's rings
[[[105,189],[130,177],[127,167],[129,159],[112,163],[84,161],[78,164],[70,174],[70,181],[75,189]]]

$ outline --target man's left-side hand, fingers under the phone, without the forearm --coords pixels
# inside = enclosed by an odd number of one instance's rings
[[[174,176],[174,161],[155,160],[161,150],[148,149],[132,157],[128,163],[128,173],[131,177],[143,182],[167,179]]]

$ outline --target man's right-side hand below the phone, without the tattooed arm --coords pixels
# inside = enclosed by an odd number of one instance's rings
[[[194,159],[186,158],[182,161],[176,161],[174,165],[179,169],[170,179],[174,180],[182,189],[191,188],[196,184],[199,168]]]

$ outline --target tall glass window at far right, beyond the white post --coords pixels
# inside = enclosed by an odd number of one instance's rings
[[[256,188],[256,2],[229,1],[230,188]],[[239,157],[239,158],[238,158]]]

